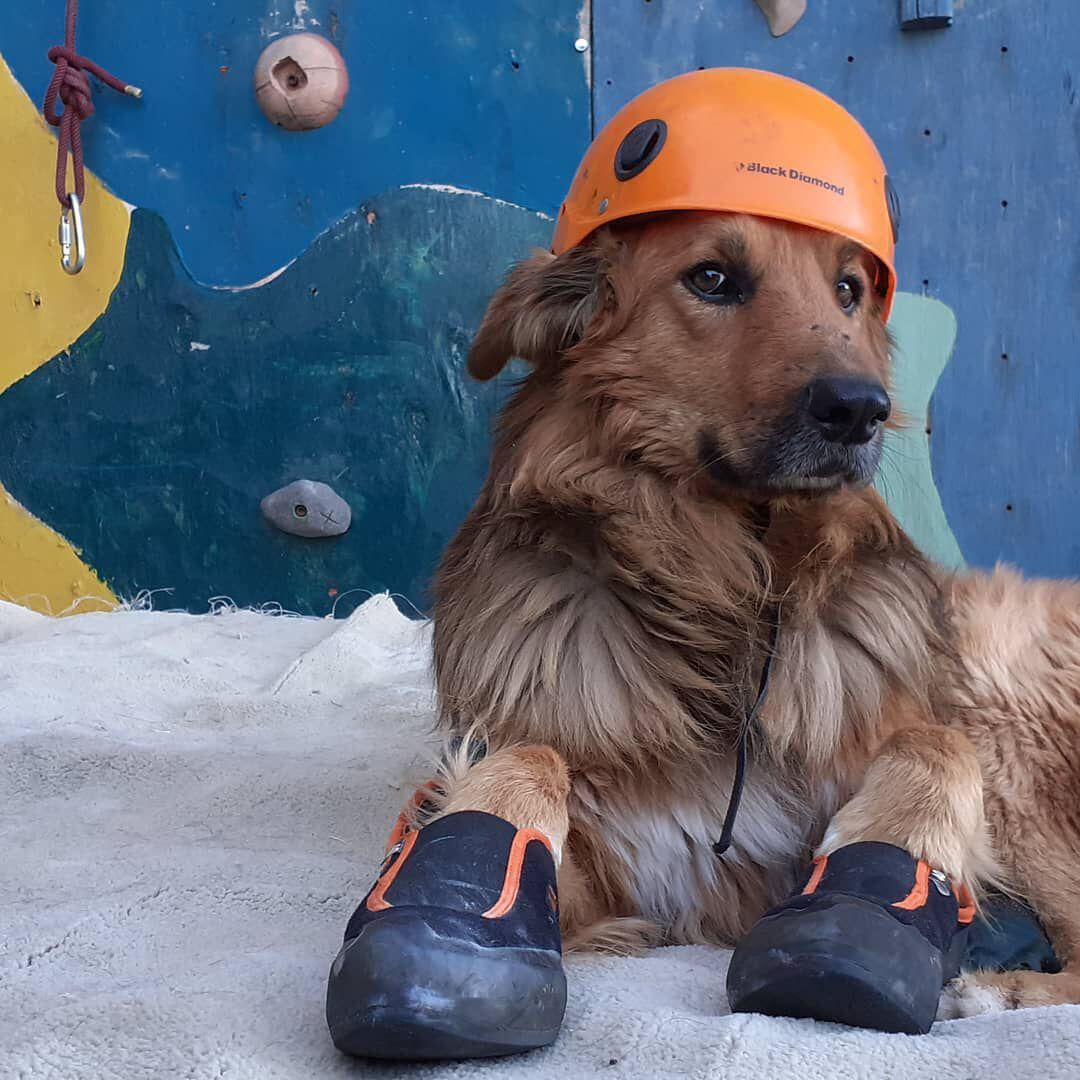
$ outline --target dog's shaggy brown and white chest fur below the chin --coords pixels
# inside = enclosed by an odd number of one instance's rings
[[[768,553],[782,573],[781,631],[723,859],[712,845],[775,596],[750,579],[760,549],[719,557],[684,513],[608,528],[590,558],[557,530],[485,551],[498,531],[483,518],[448,553],[436,615],[448,719],[478,724],[494,746],[563,755],[569,848],[608,909],[651,918],[673,941],[738,939],[791,889],[888,733],[882,715],[929,711],[936,588],[867,498],[855,508],[865,538],[796,521],[786,535],[818,557],[784,570],[784,534]]]

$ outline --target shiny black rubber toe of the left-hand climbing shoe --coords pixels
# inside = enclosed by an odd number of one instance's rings
[[[498,1057],[555,1040],[566,1011],[558,953],[485,948],[391,912],[341,947],[326,989],[334,1044],[354,1057]]]

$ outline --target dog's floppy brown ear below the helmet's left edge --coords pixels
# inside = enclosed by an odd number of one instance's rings
[[[558,256],[537,252],[518,262],[487,307],[469,350],[469,374],[495,378],[511,356],[536,366],[556,360],[610,305],[607,269],[597,244]]]

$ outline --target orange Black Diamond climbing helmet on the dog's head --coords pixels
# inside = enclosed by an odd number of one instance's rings
[[[847,237],[880,264],[889,318],[900,207],[859,121],[770,71],[711,68],[635,97],[596,136],[558,212],[552,251],[660,211],[756,214]]]

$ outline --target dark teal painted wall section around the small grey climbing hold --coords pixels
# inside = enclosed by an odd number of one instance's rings
[[[222,293],[137,211],[108,310],[0,396],[0,473],[121,596],[345,615],[390,590],[422,606],[507,384],[468,378],[469,341],[507,259],[549,231],[491,199],[397,190],[272,282]],[[262,521],[259,500],[298,476],[349,502],[348,532]]]

